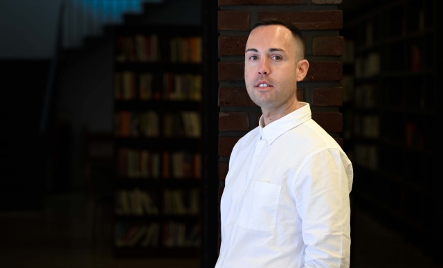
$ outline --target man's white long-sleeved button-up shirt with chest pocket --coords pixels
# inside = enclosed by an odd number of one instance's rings
[[[349,267],[352,164],[299,103],[233,148],[216,268]]]

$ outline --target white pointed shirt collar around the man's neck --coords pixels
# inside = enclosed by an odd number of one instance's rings
[[[263,127],[263,115],[258,120],[258,125],[260,126],[260,134],[262,139],[266,139],[269,144],[272,144],[275,139],[277,139],[284,132],[292,129],[307,120],[311,119],[311,109],[309,108],[309,103],[298,102],[300,108],[292,111],[291,113],[283,116],[282,118],[275,120],[273,123]]]

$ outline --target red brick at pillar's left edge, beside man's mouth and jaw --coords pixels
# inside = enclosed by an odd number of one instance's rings
[[[219,107],[256,107],[257,105],[249,98],[248,91],[236,87],[220,87]]]

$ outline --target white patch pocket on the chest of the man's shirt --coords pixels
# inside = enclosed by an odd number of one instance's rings
[[[253,181],[251,192],[244,197],[238,225],[259,231],[275,229],[281,189],[279,185]]]

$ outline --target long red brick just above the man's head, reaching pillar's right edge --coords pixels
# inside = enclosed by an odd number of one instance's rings
[[[336,30],[343,26],[343,12],[341,10],[258,12],[259,20],[266,18],[290,22],[300,30]]]

